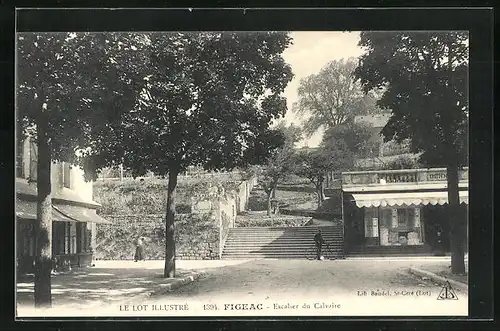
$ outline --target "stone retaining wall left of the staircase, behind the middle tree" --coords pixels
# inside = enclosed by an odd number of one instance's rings
[[[243,181],[234,192],[215,200],[199,201],[193,213],[177,214],[175,221],[176,258],[184,260],[219,259],[229,228],[244,210],[255,179]],[[99,225],[96,259],[131,260],[137,237],[146,237],[146,259],[165,258],[165,214],[101,215],[113,224]]]

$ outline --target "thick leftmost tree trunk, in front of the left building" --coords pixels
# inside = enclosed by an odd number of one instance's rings
[[[37,222],[35,257],[35,307],[52,306],[52,196],[51,150],[47,137],[48,120],[42,114],[37,122]]]

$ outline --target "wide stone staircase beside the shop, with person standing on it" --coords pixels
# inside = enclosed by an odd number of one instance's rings
[[[321,229],[328,259],[344,258],[342,225],[299,227],[241,227],[229,230],[222,259],[312,259],[314,235]]]

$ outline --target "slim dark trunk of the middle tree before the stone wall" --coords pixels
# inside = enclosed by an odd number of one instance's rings
[[[163,277],[175,277],[175,189],[177,187],[178,171],[168,173],[167,215],[165,240],[165,269]]]

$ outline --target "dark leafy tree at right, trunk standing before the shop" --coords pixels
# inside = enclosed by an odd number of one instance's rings
[[[447,168],[453,273],[465,272],[458,167],[467,164],[468,42],[467,32],[363,32],[356,69],[365,91],[385,89],[385,140],[409,138],[424,164]]]

